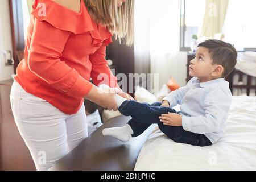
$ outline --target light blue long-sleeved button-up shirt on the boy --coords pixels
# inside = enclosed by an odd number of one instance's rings
[[[181,105],[184,130],[204,134],[212,143],[225,132],[232,94],[224,78],[200,83],[199,78],[193,77],[163,100],[169,101],[171,107]]]

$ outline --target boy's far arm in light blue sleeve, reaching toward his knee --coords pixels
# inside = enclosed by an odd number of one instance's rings
[[[181,104],[184,96],[185,86],[168,94],[166,97],[163,98],[162,103],[165,105],[169,104],[169,106],[174,107],[177,104]]]

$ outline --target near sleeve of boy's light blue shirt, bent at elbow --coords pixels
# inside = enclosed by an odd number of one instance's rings
[[[205,115],[199,117],[182,117],[182,126],[186,131],[205,134],[217,131],[227,114],[232,95],[216,89],[210,92],[204,101]]]

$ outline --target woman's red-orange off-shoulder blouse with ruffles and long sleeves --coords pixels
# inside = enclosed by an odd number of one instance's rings
[[[24,90],[75,114],[92,89],[90,78],[97,86],[119,88],[105,59],[113,35],[90,18],[84,1],[79,13],[52,0],[35,1],[32,7],[24,59],[15,75]],[[108,79],[98,80],[100,73]]]

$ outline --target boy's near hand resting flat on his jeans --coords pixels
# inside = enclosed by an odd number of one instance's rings
[[[182,126],[182,116],[176,113],[162,114],[160,117],[160,122],[168,126]]]

